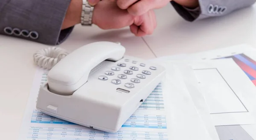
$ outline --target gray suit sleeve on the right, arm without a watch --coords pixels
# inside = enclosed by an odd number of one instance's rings
[[[192,22],[209,17],[230,14],[233,11],[253,5],[255,1],[256,0],[199,0],[199,7],[195,9],[181,6],[174,0],[171,1],[171,4],[181,17]]]

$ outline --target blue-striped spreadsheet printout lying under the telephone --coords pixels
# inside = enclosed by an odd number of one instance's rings
[[[116,133],[103,132],[46,115],[35,108],[47,70],[35,74],[19,140],[167,140],[162,87],[159,84]],[[107,120],[106,120],[107,121]]]

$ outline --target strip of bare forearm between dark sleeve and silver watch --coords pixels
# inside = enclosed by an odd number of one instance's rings
[[[71,0],[61,29],[70,28],[81,21],[82,0]]]

